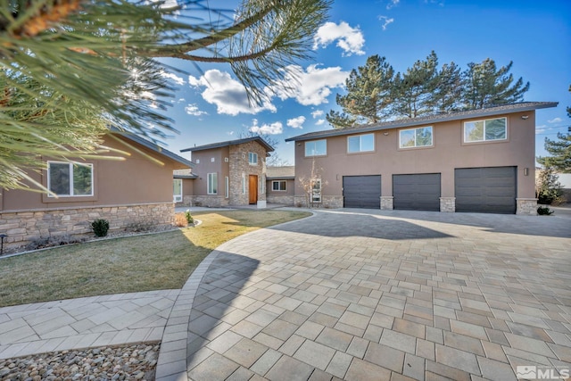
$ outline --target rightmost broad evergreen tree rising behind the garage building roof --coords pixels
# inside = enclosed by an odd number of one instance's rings
[[[468,70],[463,73],[464,107],[475,110],[523,101],[525,92],[529,90],[529,82],[524,84],[520,77],[513,83],[513,74],[509,73],[512,64],[509,62],[507,66],[497,69],[496,63],[490,58],[481,63],[468,63]]]

